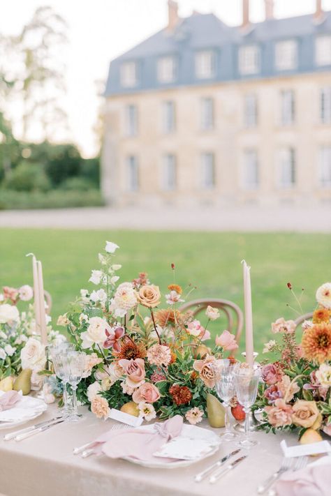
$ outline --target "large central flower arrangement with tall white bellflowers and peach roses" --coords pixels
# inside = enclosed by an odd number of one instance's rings
[[[93,270],[89,279],[97,289],[81,290],[57,321],[66,326],[77,349],[87,354],[78,399],[98,418],[106,418],[115,407],[147,421],[156,415],[166,419],[181,414],[198,423],[214,386],[211,364],[224,351],[237,348],[235,337],[224,331],[214,348],[208,348],[207,325],[219,317],[219,310],[207,308],[203,327],[191,312],[177,309],[184,296],[175,283],[168,285],[165,308],[159,287],[146,273],[117,285],[121,269],[113,262],[117,248],[107,241],[98,254],[101,269]],[[175,276],[173,264],[172,271]]]

